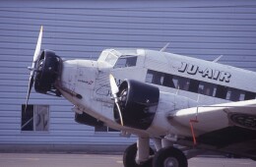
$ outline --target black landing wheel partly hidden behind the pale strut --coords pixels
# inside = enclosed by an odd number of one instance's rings
[[[152,167],[152,158],[146,161],[144,164],[137,164],[135,161],[137,153],[137,143],[128,146],[123,154],[124,167]],[[154,150],[150,147],[150,155],[154,155]]]

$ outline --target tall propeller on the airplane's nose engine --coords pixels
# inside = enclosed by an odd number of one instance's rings
[[[42,27],[40,28],[40,32],[39,32],[39,35],[38,35],[36,47],[35,47],[35,50],[34,50],[34,54],[33,54],[33,58],[32,58],[32,67],[28,68],[29,70],[31,70],[31,76],[30,76],[30,82],[29,82],[29,89],[28,89],[28,93],[27,93],[25,112],[27,110],[29,98],[30,98],[31,91],[32,91],[32,84],[33,84],[33,78],[34,78],[34,72],[35,72],[35,65],[36,65],[36,62],[37,62],[37,60],[39,59],[39,56],[40,56],[41,38],[42,38]]]

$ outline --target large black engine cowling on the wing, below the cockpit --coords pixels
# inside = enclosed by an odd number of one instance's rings
[[[124,126],[147,130],[152,125],[160,99],[159,87],[125,80],[120,84],[117,96]],[[114,118],[120,124],[116,105],[114,105]]]

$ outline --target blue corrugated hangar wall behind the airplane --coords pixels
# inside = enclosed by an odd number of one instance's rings
[[[95,133],[75,123],[64,98],[37,94],[50,105],[47,133],[21,131],[27,67],[40,26],[42,48],[62,58],[96,59],[111,47],[160,49],[256,71],[256,1],[18,1],[0,2],[0,143],[124,144],[118,133]],[[246,81],[244,81],[246,82]]]

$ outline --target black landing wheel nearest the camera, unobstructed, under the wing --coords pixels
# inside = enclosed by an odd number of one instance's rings
[[[187,167],[184,153],[172,146],[161,148],[153,159],[153,167]]]

